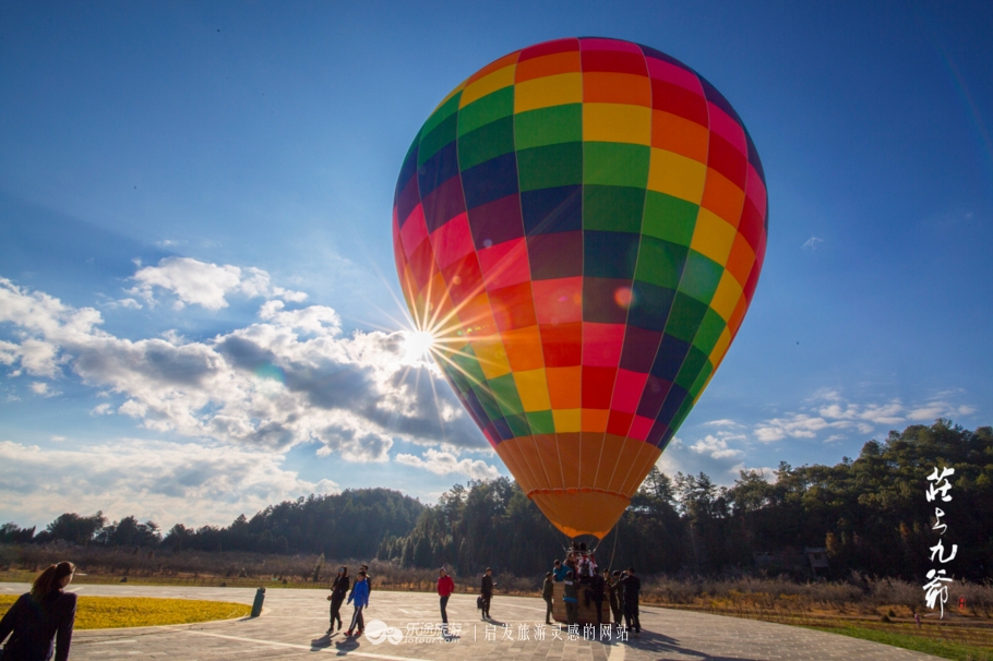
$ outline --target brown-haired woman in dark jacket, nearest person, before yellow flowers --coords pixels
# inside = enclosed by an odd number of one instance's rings
[[[69,659],[76,596],[62,589],[74,572],[69,562],[49,566],[0,620],[0,642],[10,636],[4,661],[48,661],[53,648],[56,661]]]

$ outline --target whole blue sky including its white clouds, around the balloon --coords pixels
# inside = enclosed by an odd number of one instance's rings
[[[452,87],[571,35],[696,69],[765,166],[755,300],[665,470],[990,424],[990,34],[982,2],[4,3],[0,521],[506,474],[405,353],[393,187]]]

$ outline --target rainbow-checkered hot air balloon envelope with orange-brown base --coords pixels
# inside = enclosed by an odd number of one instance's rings
[[[527,496],[606,536],[720,364],[766,247],[758,154],[705,79],[569,38],[445,97],[404,160],[417,327]]]

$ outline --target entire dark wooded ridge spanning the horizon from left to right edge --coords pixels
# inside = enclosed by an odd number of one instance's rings
[[[934,530],[935,503],[924,498],[934,467],[954,468],[944,536]],[[936,561],[941,539],[958,551],[949,575],[983,580],[993,564],[993,430],[968,431],[947,420],[870,441],[858,458],[835,466],[791,467],[771,474],[741,471],[731,486],[705,473],[670,478],[653,469],[615,529],[599,543],[603,566],[645,573],[719,574],[764,569],[803,574],[806,548],[823,548],[829,570],[919,580]],[[565,537],[517,484],[499,478],[456,484],[423,506],[385,489],[311,495],[266,507],[230,526],[174,526],[165,534],[135,517],[107,522],[64,514],[35,533],[14,524],[0,543],[156,546],[174,551],[323,554],[328,558],[395,561],[407,567],[450,565],[458,573],[487,566],[518,576],[543,574],[562,557]],[[589,540],[595,541],[595,540]]]

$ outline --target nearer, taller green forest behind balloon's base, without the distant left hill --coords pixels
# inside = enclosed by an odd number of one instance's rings
[[[954,468],[952,502],[929,503],[934,467]],[[934,530],[935,504],[948,528]],[[932,560],[938,539],[947,565]],[[516,483],[501,478],[456,485],[426,507],[414,530],[388,537],[380,560],[414,567],[487,566],[543,574],[566,540]],[[597,548],[603,566],[646,573],[719,574],[812,570],[806,549],[824,549],[832,576],[850,572],[919,580],[938,565],[982,581],[993,572],[993,430],[947,420],[870,441],[835,466],[780,464],[771,474],[744,470],[731,486],[705,473],[674,478],[654,468],[620,522]]]

